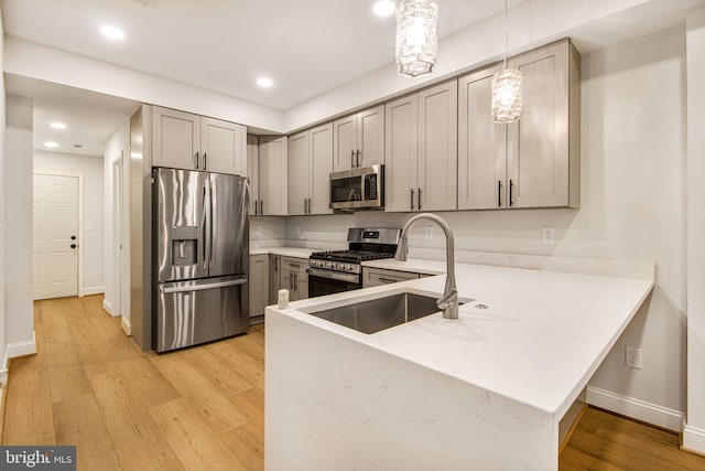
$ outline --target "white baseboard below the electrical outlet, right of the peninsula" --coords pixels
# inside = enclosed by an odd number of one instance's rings
[[[683,413],[633,397],[587,386],[587,404],[669,430],[683,431]]]

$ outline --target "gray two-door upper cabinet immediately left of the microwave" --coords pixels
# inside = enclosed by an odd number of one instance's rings
[[[289,214],[330,214],[333,124],[289,138]]]

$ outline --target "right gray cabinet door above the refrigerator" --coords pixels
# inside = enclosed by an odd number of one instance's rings
[[[200,118],[203,170],[245,175],[247,169],[245,126]]]

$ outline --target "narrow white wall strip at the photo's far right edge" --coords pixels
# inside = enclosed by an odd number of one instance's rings
[[[685,448],[705,453],[705,8],[687,26],[687,417]]]

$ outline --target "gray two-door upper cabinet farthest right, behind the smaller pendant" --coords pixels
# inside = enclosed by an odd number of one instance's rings
[[[579,206],[579,55],[568,40],[512,57],[523,73],[521,119],[490,116],[491,77],[458,81],[458,208]]]

